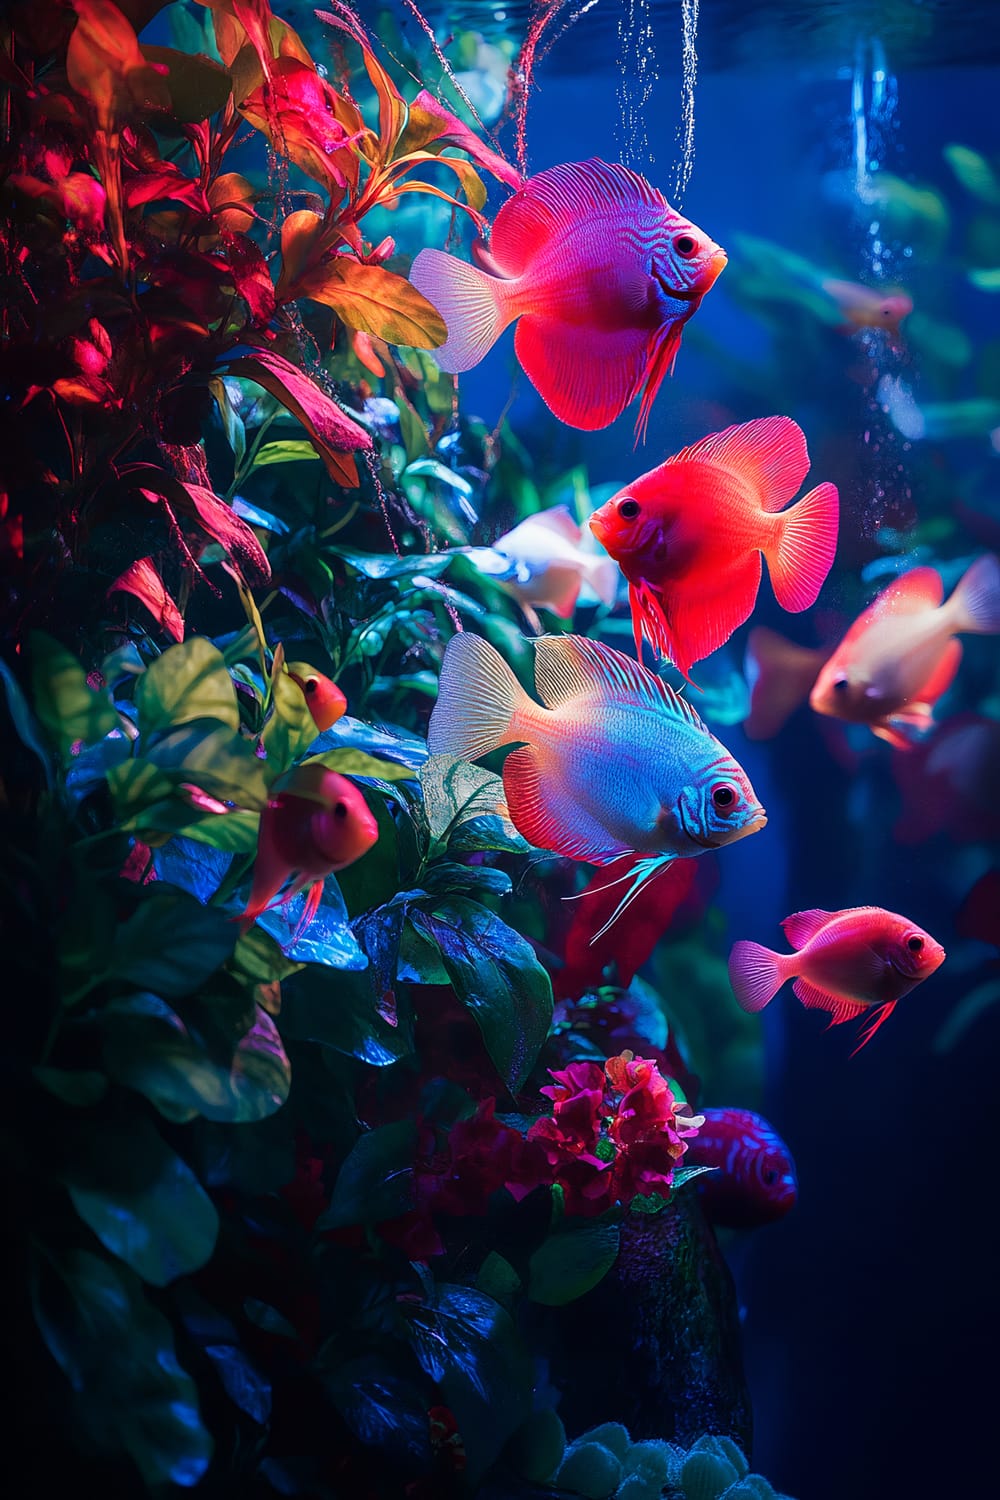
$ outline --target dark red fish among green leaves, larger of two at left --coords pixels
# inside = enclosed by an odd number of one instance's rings
[[[310,886],[298,938],[316,915],[325,878],[367,854],[378,824],[354,782],[322,765],[295,766],[277,786],[261,813],[253,886],[240,920],[246,932],[291,879],[279,906]]]

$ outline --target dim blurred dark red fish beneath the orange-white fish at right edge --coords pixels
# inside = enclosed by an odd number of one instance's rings
[[[955,843],[1000,838],[1000,720],[955,714],[894,754],[892,771],[903,795],[897,843],[940,832]]]

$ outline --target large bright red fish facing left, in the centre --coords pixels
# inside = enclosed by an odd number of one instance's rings
[[[816,603],[837,550],[837,488],[781,510],[808,468],[802,429],[762,417],[682,448],[591,516],[628,579],[639,654],[645,634],[688,676],[750,616],[762,552],[783,609]]]

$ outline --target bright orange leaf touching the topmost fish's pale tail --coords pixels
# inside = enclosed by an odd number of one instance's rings
[[[405,276],[382,266],[363,266],[349,255],[334,255],[298,282],[298,292],[333,308],[348,328],[402,344],[436,350],[448,330],[444,318]]]

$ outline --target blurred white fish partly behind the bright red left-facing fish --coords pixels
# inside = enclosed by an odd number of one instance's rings
[[[550,609],[562,620],[573,616],[583,585],[601,603],[613,604],[618,567],[606,554],[589,552],[582,544],[583,537],[582,526],[565,506],[528,516],[493,543],[493,552],[502,552],[517,564],[514,578],[501,580],[504,588],[519,603]],[[475,549],[469,555],[475,562]]]

